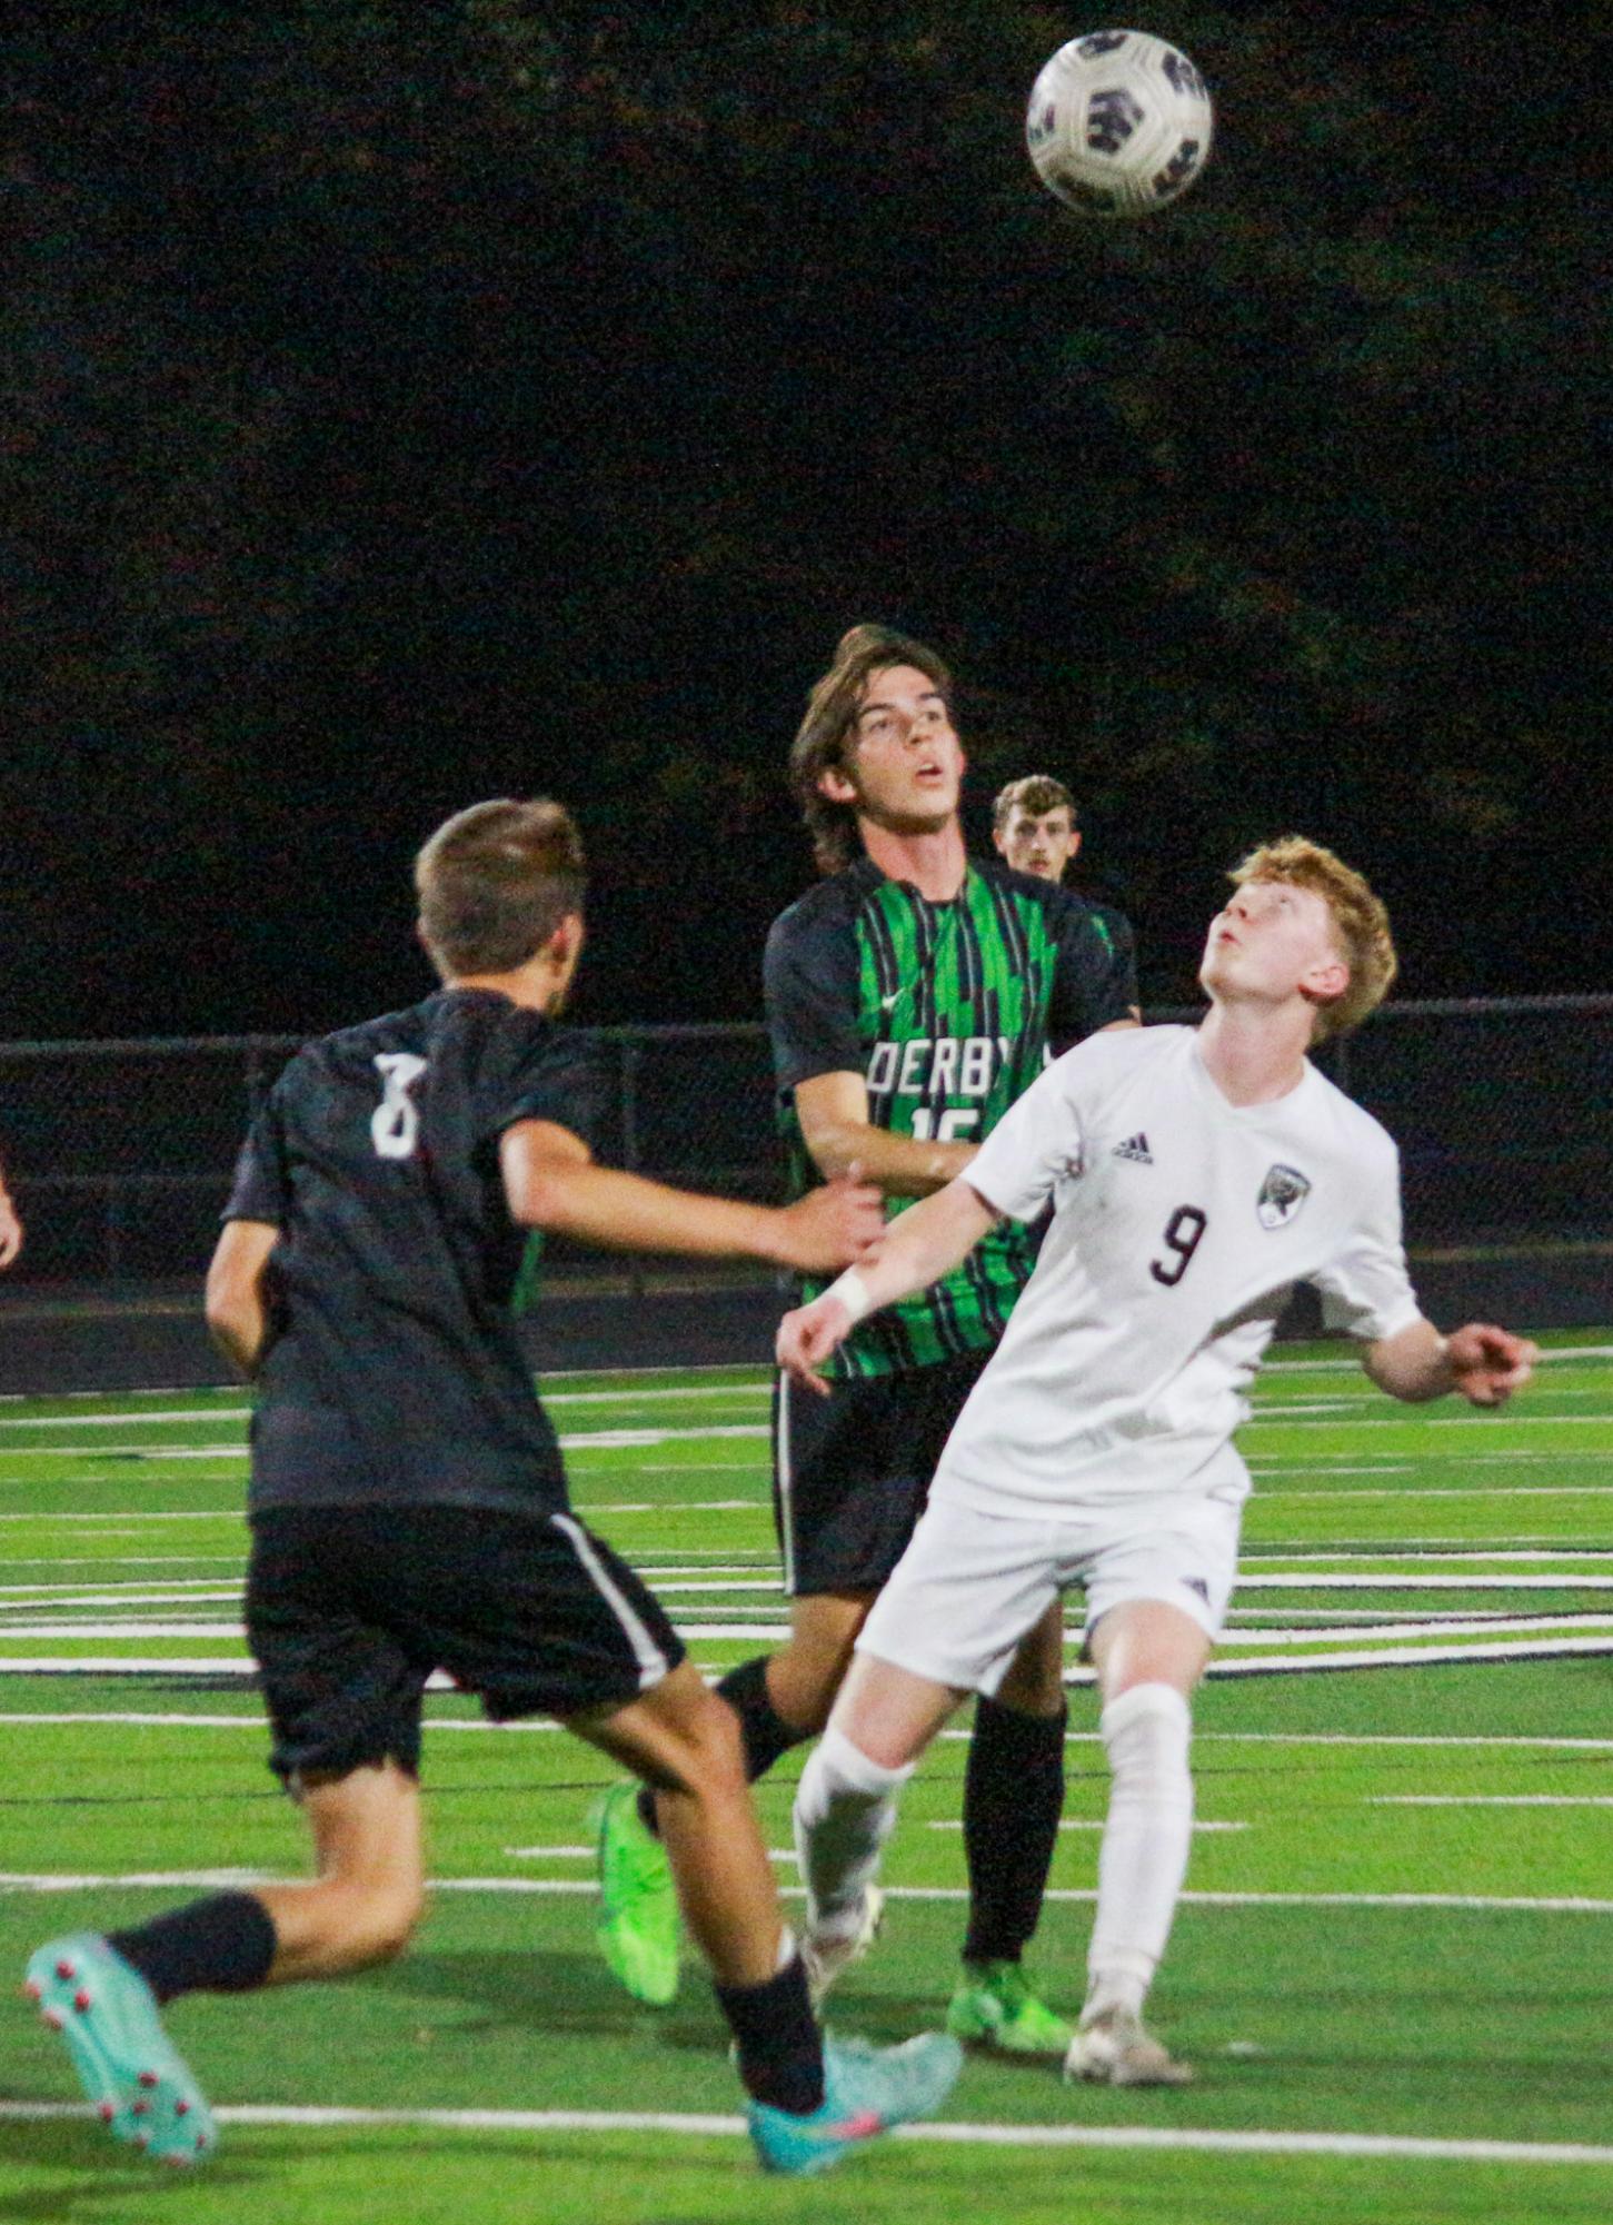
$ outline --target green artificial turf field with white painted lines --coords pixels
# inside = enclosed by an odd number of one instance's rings
[[[754,1371],[550,1388],[578,1509],[701,1667],[783,1629]],[[1199,1822],[1150,2016],[1186,2092],[972,2060],[946,2120],[823,2183],[759,2178],[699,1971],[639,2009],[594,1960],[598,1756],[429,1702],[432,1914],[338,1987],[189,1998],[202,2172],[113,2147],[22,2000],[0,2221],[730,2225],[857,2218],[1602,2218],[1613,2203],[1613,1346],[1553,1342],[1500,1417],[1397,1408],[1284,1348],[1244,1433],[1244,1578],[1197,1711]],[[296,1876],[238,1629],[238,1393],[0,1402],[0,1960],[225,1878]],[[1070,1649],[1075,1669],[1075,1649]],[[963,1920],[963,1733],[912,1784],[834,2020],[937,2023]],[[788,1845],[796,1769],[761,1789]],[[1090,1689],[1035,1949],[1081,1994],[1104,1813]],[[792,1865],[781,1851],[781,1878]]]

